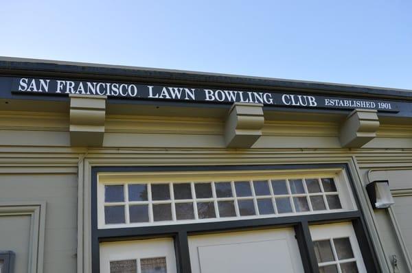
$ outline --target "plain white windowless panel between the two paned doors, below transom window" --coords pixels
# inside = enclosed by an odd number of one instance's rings
[[[189,237],[192,273],[304,272],[292,228]]]

